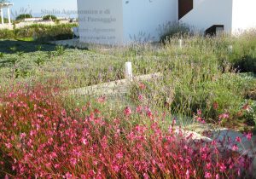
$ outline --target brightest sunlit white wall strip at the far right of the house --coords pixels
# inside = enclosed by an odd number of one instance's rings
[[[256,27],[256,0],[233,0],[232,33]]]

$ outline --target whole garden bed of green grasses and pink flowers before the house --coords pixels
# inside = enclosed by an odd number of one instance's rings
[[[177,38],[108,50],[0,41],[0,176],[252,178],[253,156],[239,145],[254,142],[256,78],[234,68],[254,55],[250,37],[192,37],[182,49]],[[163,76],[134,80],[112,101],[126,61],[135,76]],[[201,131],[209,143],[189,140],[195,125],[209,126]],[[215,127],[245,135],[212,141]]]

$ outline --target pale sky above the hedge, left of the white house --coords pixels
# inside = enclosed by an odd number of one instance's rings
[[[73,13],[77,10],[77,0],[9,0],[9,2],[14,3],[11,8],[12,17],[30,12],[33,16],[55,14],[60,17],[74,17],[76,14],[69,12]]]

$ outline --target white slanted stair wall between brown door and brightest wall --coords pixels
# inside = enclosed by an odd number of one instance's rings
[[[212,25],[224,25],[225,32],[232,29],[233,0],[195,0],[194,9],[180,20],[198,31],[205,31]],[[242,1],[243,0],[237,0]]]

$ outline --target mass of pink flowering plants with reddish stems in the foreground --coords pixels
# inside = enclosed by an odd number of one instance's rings
[[[67,111],[52,94],[38,86],[1,95],[1,177],[250,178],[253,173],[252,159],[219,147],[225,141],[194,140],[175,120],[170,124],[147,106],[108,115],[98,108],[108,99],[100,97]]]

